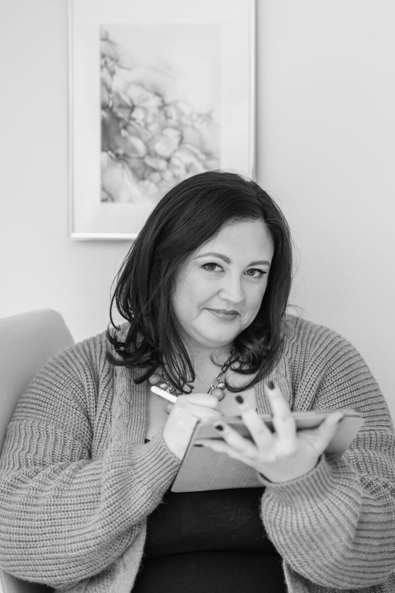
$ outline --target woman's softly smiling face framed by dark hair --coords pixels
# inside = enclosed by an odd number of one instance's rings
[[[174,308],[185,343],[195,349],[231,345],[261,306],[273,257],[264,222],[226,225],[199,247],[176,281]]]

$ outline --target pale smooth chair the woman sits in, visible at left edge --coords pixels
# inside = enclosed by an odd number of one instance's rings
[[[62,315],[31,311],[0,319],[0,451],[18,400],[46,361],[73,344]],[[31,584],[0,569],[0,593],[41,593]]]

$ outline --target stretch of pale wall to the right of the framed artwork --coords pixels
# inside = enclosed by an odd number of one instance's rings
[[[293,302],[359,349],[395,419],[395,5],[265,0],[258,181],[300,252]]]

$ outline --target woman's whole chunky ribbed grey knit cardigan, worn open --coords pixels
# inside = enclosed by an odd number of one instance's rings
[[[100,334],[40,371],[0,459],[0,566],[70,593],[131,591],[146,517],[179,467],[161,432],[144,444],[146,387],[106,361],[107,347]],[[288,591],[395,592],[394,432],[369,369],[338,334],[288,316],[270,378],[295,411],[357,407],[365,417],[343,458],[265,484],[261,517]],[[256,401],[269,412],[262,384]]]

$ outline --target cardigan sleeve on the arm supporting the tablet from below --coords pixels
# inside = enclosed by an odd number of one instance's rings
[[[306,476],[266,484],[269,537],[291,569],[314,584],[395,584],[395,445],[386,402],[357,350],[338,334],[306,324],[297,341],[290,352],[295,358],[301,347],[306,356],[294,377],[294,409],[356,407],[365,424],[341,459],[324,454]]]

